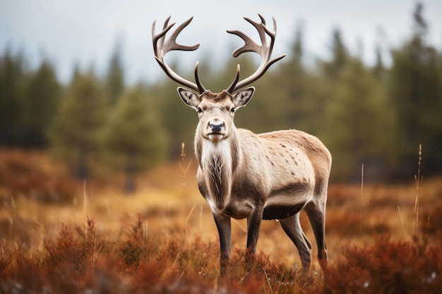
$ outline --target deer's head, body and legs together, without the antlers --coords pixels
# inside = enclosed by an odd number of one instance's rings
[[[194,144],[198,187],[213,210],[220,233],[221,264],[230,255],[230,217],[247,219],[247,247],[251,253],[256,250],[261,220],[279,219],[297,246],[304,269],[309,271],[311,245],[299,225],[299,211],[305,207],[316,237],[318,258],[325,264],[330,152],[318,138],[300,130],[256,135],[237,129],[232,109],[249,102],[253,90],[248,88],[235,95],[205,92],[201,96],[179,90],[200,119]],[[214,127],[220,130],[213,131]],[[215,137],[210,137],[213,134]]]

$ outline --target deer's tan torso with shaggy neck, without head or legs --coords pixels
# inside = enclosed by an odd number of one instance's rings
[[[234,133],[220,142],[195,139],[198,187],[214,213],[244,219],[263,209],[262,219],[285,219],[309,202],[325,204],[331,157],[316,137]]]

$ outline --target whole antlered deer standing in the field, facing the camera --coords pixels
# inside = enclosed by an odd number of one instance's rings
[[[177,36],[191,23],[193,17],[179,25],[166,39],[167,32],[176,23],[165,20],[161,32],[153,22],[152,37],[155,59],[169,78],[184,87],[178,87],[182,101],[198,114],[193,142],[198,161],[196,175],[198,190],[213,213],[220,242],[220,274],[225,275],[232,247],[232,218],[247,220],[246,260],[256,255],[258,235],[263,220],[277,220],[283,231],[297,247],[301,267],[305,273],[311,267],[311,243],[299,221],[304,209],[316,239],[318,262],[327,266],[325,244],[325,207],[331,155],[315,136],[301,130],[277,130],[255,134],[234,125],[236,111],[249,103],[254,87],[246,87],[286,54],[271,58],[276,37],[276,21],[269,30],[265,19],[261,22],[244,18],[258,31],[261,44],[238,30],[227,30],[244,40],[244,45],[233,53],[244,52],[261,56],[261,64],[248,78],[239,80],[240,66],[227,90],[219,93],[206,90],[198,77],[198,61],[194,68],[195,82],[182,78],[165,62],[169,51],[194,51],[199,44],[187,46],[177,43]],[[268,38],[270,37],[270,44]]]

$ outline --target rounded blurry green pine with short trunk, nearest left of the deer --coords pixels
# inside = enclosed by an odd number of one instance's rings
[[[120,159],[125,192],[136,189],[136,175],[165,158],[167,135],[141,85],[119,99],[104,130],[104,145]]]

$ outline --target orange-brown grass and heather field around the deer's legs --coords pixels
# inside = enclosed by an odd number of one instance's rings
[[[139,176],[125,195],[120,176],[78,183],[46,154],[0,151],[0,293],[442,293],[441,178],[330,185],[325,271],[301,213],[310,276],[277,221],[263,221],[246,264],[246,223],[233,221],[220,277],[195,174],[188,156]]]

